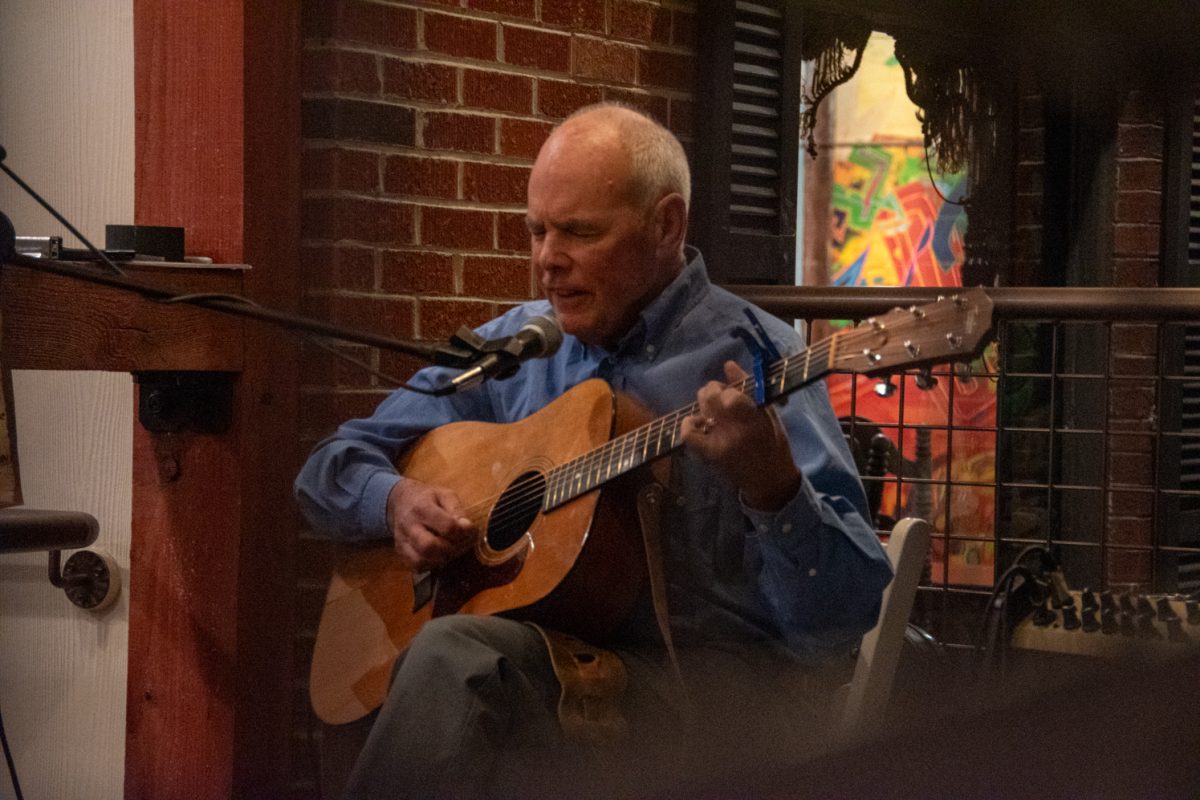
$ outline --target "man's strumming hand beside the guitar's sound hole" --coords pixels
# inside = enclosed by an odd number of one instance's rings
[[[475,525],[451,489],[402,477],[388,493],[396,553],[414,572],[434,570],[475,543]]]

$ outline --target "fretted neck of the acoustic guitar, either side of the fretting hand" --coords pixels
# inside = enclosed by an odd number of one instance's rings
[[[790,395],[833,369],[838,335],[798,355],[780,359],[763,369],[767,403]],[[751,377],[731,384],[743,395],[755,397],[757,381]],[[595,450],[553,468],[547,475],[542,510],[550,511],[564,503],[604,486],[608,481],[661,458],[682,444],[683,421],[700,411],[692,403],[671,414],[647,422],[640,428],[610,439]]]

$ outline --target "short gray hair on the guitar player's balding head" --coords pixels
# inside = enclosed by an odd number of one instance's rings
[[[584,106],[563,124],[581,116],[598,115],[611,125],[629,154],[630,181],[642,207],[649,209],[659,198],[672,192],[691,205],[691,170],[688,155],[671,131],[638,108],[617,102]]]

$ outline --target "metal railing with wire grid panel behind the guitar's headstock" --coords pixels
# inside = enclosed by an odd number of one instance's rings
[[[954,288],[730,287],[810,342]],[[906,515],[935,541],[918,624],[972,626],[1030,545],[1074,588],[1200,589],[1200,290],[995,288],[992,343],[970,365],[833,375],[881,533]],[[932,384],[932,385],[930,385]],[[922,389],[924,386],[925,389]]]

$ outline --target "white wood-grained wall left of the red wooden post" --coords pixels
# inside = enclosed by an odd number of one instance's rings
[[[0,145],[97,246],[106,223],[132,222],[132,0],[0,0]],[[5,175],[0,211],[19,235],[78,246]],[[0,712],[25,796],[120,798],[132,379],[18,372],[13,384],[25,504],[95,515],[91,549],[116,559],[125,587],[91,614],[50,585],[44,553],[0,555]],[[0,796],[10,796],[2,763]]]

